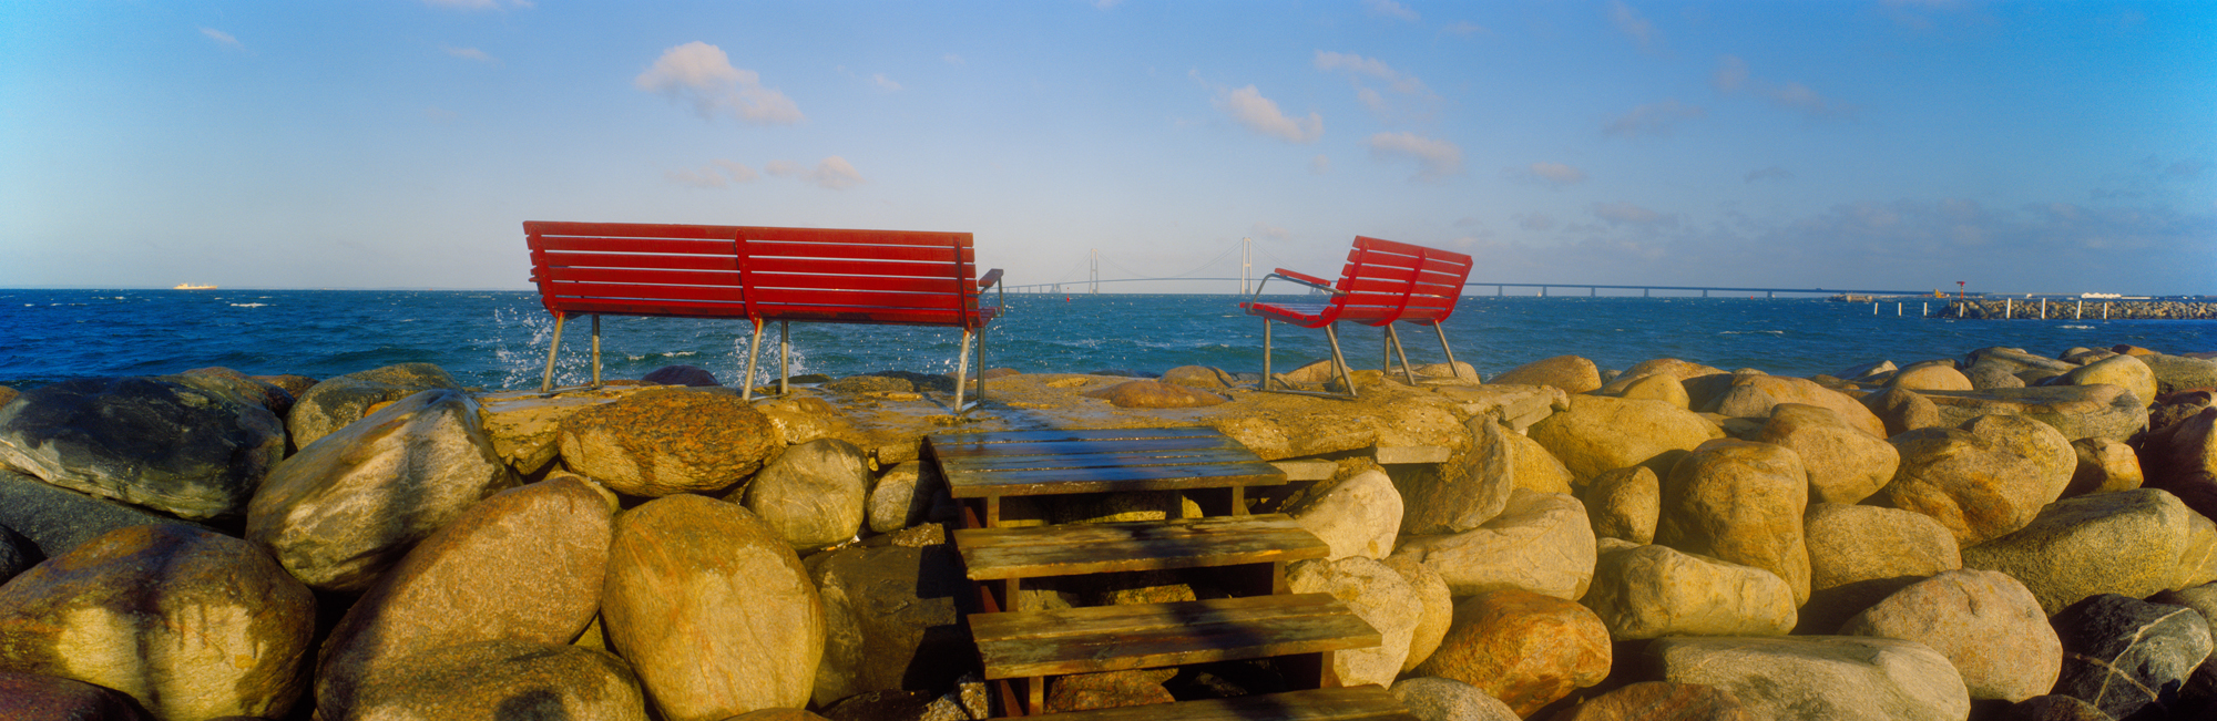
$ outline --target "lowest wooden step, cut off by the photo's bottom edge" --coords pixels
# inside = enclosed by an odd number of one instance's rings
[[[1417,721],[1383,686],[1315,688],[1046,714],[1053,721]]]

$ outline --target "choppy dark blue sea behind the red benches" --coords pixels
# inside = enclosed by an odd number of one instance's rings
[[[1299,296],[1266,296],[1301,301]],[[984,332],[984,365],[1018,372],[1159,374],[1179,365],[1261,372],[1264,323],[1230,294],[1009,294]],[[1962,358],[1980,347],[2055,356],[2119,343],[2168,354],[2217,349],[2217,321],[1931,318],[1944,301],[1833,303],[1747,296],[1492,296],[1459,301],[1445,323],[1454,358],[1490,378],[1550,356],[1603,369],[1683,358],[1780,376],[1840,374],[1893,360]],[[694,365],[725,385],[747,369],[749,325],[698,318],[601,318],[601,374],[638,378]],[[29,389],[93,376],[162,376],[228,367],[251,376],[330,378],[392,363],[432,363],[479,389],[537,389],[554,316],[532,290],[0,290],[0,385]],[[1401,325],[1412,363],[1439,363],[1439,336]],[[962,341],[951,327],[794,323],[791,372],[944,374]],[[1357,369],[1381,367],[1383,332],[1344,325]],[[1321,330],[1277,325],[1273,369],[1330,354]],[[585,383],[592,323],[572,318],[556,385]],[[778,325],[765,325],[756,380],[774,380]]]

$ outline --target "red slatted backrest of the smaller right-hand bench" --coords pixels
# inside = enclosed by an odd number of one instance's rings
[[[1470,279],[1470,257],[1450,250],[1355,237],[1348,265],[1339,270],[1339,318],[1386,325],[1392,321],[1441,323]]]

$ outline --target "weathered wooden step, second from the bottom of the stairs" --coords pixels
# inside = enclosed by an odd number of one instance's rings
[[[1328,593],[969,617],[987,679],[1266,659],[1379,644]]]

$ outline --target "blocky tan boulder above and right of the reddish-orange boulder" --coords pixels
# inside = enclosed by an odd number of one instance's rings
[[[1794,630],[1794,588],[1776,573],[1638,546],[1603,553],[1581,599],[1616,641]]]

